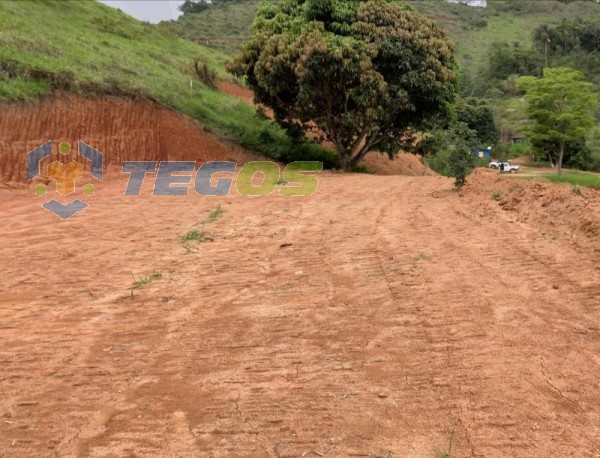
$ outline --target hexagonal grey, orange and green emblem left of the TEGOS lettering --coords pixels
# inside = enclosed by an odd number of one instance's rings
[[[86,145],[79,140],[77,145],[78,159],[84,158],[91,163],[91,176],[95,180],[102,181],[104,178],[104,156],[103,154]],[[58,152],[67,159],[71,154],[71,144],[61,142],[58,145]],[[53,161],[47,168],[46,173],[42,173],[42,161],[52,155],[52,142],[49,141],[41,146],[38,146],[33,151],[27,153],[27,180],[31,181],[34,178],[41,177],[54,181],[56,184],[56,193],[60,196],[68,197],[75,192],[76,182],[84,176],[84,165],[77,160],[68,162]],[[91,197],[96,192],[96,188],[92,183],[86,183],[81,191],[84,196]],[[34,188],[37,196],[45,196],[48,194],[48,186],[40,183]],[[67,219],[71,216],[86,209],[88,204],[80,199],[74,199],[67,204],[62,204],[56,199],[51,199],[42,207],[54,213],[56,216]]]

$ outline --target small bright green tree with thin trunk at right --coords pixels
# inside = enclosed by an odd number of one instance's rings
[[[556,141],[559,145],[557,170],[562,171],[565,145],[585,137],[594,121],[597,104],[592,84],[583,74],[570,68],[546,68],[542,78],[522,77],[519,87],[525,91],[526,114],[532,124],[527,133],[533,143]]]

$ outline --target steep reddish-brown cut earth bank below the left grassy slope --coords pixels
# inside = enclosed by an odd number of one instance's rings
[[[28,104],[0,104],[0,182],[24,182],[26,153],[48,140],[72,145],[82,140],[104,154],[108,168],[120,168],[128,160],[242,162],[259,157],[224,144],[190,118],[150,102],[59,95]],[[56,145],[53,150],[54,156],[45,162],[67,160],[59,158]]]

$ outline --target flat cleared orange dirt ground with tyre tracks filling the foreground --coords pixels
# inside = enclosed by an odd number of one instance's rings
[[[600,455],[598,253],[450,188],[0,191],[0,456]]]

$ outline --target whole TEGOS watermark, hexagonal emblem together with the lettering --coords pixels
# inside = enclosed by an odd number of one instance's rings
[[[44,180],[34,188],[37,196],[46,196],[48,184],[54,182],[55,192],[62,196],[59,198],[68,199],[76,191],[77,182],[84,177],[84,163],[87,162],[91,164],[91,178],[103,181],[104,155],[81,140],[77,151],[77,155],[69,156],[71,145],[61,142],[58,152],[63,160],[50,162],[45,171],[42,163],[52,156],[52,142],[27,153],[27,180]],[[291,162],[283,169],[273,161],[247,162],[240,168],[235,162],[229,161],[205,162],[199,168],[196,168],[195,161],[125,161],[121,173],[129,176],[126,196],[139,196],[145,182],[153,184],[153,196],[187,196],[193,193],[200,196],[226,196],[232,189],[242,196],[310,196],[319,185],[314,174],[322,170],[323,163],[316,161]],[[82,199],[86,200],[86,197],[94,195],[96,188],[91,180],[81,181],[88,181],[81,187],[81,194],[85,196]],[[68,219],[85,210],[88,204],[79,198],[66,204],[53,198],[42,207],[62,219]]]

